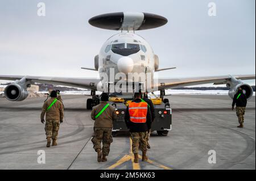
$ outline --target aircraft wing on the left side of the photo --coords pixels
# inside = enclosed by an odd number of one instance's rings
[[[22,76],[22,75],[0,75],[2,80],[20,80],[26,78],[26,81],[31,83],[49,83],[52,85],[62,85],[79,87],[83,89],[96,89],[100,79],[97,78],[68,78],[68,77],[38,77],[38,76]]]

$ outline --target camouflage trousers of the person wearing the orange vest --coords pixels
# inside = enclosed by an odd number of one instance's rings
[[[142,151],[147,150],[147,132],[131,133],[131,141],[133,153],[139,152],[139,146]]]

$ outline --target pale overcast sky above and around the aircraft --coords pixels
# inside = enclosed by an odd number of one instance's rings
[[[37,4],[46,4],[38,16]],[[216,16],[208,3],[216,3]],[[115,31],[90,26],[108,12],[134,11],[168,19],[160,28],[137,31],[158,54],[159,77],[255,74],[254,0],[0,0],[0,74],[97,77],[94,56]],[[255,81],[250,81],[255,85]]]

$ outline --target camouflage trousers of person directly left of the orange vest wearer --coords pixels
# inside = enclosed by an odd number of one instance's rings
[[[102,141],[102,148],[101,148]],[[113,142],[112,128],[94,128],[94,135],[92,138],[93,148],[102,150],[102,154],[109,155],[110,144]]]

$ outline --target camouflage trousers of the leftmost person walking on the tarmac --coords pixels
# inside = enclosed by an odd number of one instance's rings
[[[57,140],[59,129],[59,120],[46,120],[46,127],[44,127],[44,130],[46,131],[46,138],[52,137],[52,139]]]

